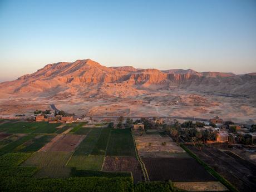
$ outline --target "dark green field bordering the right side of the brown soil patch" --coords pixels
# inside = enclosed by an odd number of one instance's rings
[[[74,155],[90,155],[100,136],[101,130],[102,128],[92,128],[88,135],[85,137],[85,139],[80,143],[80,145],[78,145]]]

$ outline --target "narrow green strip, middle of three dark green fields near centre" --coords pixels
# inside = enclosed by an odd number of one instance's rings
[[[107,142],[109,141],[110,137],[110,128],[104,128],[101,131],[99,139],[97,140],[95,147],[93,148],[91,154],[92,155],[105,155],[107,149]]]

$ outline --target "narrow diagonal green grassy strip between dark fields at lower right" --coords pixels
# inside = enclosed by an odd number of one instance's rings
[[[193,157],[199,164],[203,165],[204,169],[207,170],[214,178],[218,179],[220,183],[225,185],[230,191],[239,192],[232,184],[229,183],[228,180],[223,178],[220,174],[218,174],[213,168],[211,168],[208,164],[204,163],[204,161],[200,160],[198,156],[196,156],[192,151],[190,151],[185,145],[180,144],[180,146],[188,152],[188,154]]]

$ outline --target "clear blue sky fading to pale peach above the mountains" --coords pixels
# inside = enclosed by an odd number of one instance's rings
[[[255,0],[0,0],[0,81],[60,61],[256,72]]]

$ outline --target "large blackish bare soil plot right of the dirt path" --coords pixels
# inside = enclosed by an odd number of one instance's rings
[[[189,158],[142,158],[151,181],[215,181],[198,162]]]

